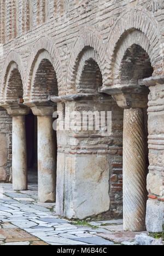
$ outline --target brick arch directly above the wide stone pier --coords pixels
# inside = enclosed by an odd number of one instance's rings
[[[83,51],[86,49],[92,49],[94,51],[94,58],[99,68],[101,69],[103,80],[106,76],[106,50],[103,48],[102,38],[93,32],[92,30],[84,29],[80,33],[80,37],[77,38],[73,45],[71,58],[68,65],[67,72],[67,93],[75,93],[75,82],[77,78],[78,65]],[[89,57],[89,56],[88,56]]]

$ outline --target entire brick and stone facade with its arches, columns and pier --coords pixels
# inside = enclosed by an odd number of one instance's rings
[[[163,1],[1,0],[0,14],[1,181],[10,176],[13,117],[13,188],[27,187],[24,116],[32,110],[39,201],[56,197],[57,214],[68,218],[121,216],[124,141],[124,229],[145,229],[149,169],[146,225],[161,231]],[[54,110],[65,115],[67,107],[112,111],[112,135],[57,131],[56,161],[51,116]],[[127,218],[140,225],[126,224]]]

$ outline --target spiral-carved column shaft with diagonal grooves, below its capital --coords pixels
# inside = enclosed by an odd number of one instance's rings
[[[142,109],[124,110],[123,138],[124,230],[144,231],[147,190]]]

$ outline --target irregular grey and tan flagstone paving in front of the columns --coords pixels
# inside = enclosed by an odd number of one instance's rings
[[[0,245],[115,245],[127,241],[111,241],[113,232],[122,230],[122,220],[74,225],[55,215],[55,203],[37,202],[33,178],[28,189],[13,191],[12,184],[0,183]]]

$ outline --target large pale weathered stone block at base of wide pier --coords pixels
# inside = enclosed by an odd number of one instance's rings
[[[65,216],[84,219],[109,210],[109,164],[106,156],[66,158]]]

